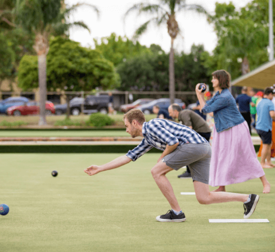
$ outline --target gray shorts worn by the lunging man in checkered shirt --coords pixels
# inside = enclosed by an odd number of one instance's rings
[[[174,170],[188,166],[193,181],[208,184],[210,160],[211,146],[209,143],[186,143],[177,146],[172,153],[162,159],[162,162]]]

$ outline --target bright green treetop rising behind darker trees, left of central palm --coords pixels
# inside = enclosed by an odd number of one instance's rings
[[[139,54],[150,54],[145,45],[141,45],[139,42],[134,43],[127,37],[116,36],[112,33],[109,37],[101,39],[101,43],[94,39],[96,49],[100,50],[105,59],[113,62],[115,66],[123,62],[123,60],[135,57]]]

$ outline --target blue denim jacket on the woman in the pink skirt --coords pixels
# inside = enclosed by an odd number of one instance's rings
[[[244,122],[236,101],[227,88],[221,93],[216,92],[209,101],[206,101],[202,112],[214,112],[214,122],[218,133]]]

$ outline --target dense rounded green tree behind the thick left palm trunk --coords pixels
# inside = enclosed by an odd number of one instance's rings
[[[81,47],[78,42],[62,37],[52,39],[49,46],[48,90],[91,91],[96,87],[106,90],[119,86],[119,75],[113,64],[98,50]],[[25,55],[19,66],[19,86],[23,90],[36,88],[37,81],[37,56]]]

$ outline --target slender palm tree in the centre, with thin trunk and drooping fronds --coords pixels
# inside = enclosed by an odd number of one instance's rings
[[[186,0],[159,0],[159,4],[138,3],[127,10],[125,17],[133,10],[138,10],[139,13],[149,12],[154,15],[153,18],[142,24],[136,31],[135,37],[144,33],[149,23],[154,22],[158,26],[167,24],[168,34],[171,37],[171,49],[169,54],[169,92],[171,103],[175,98],[175,78],[174,78],[174,49],[173,43],[179,33],[178,23],[175,14],[182,10],[195,10],[199,13],[207,13],[204,7],[198,4],[186,4]]]

